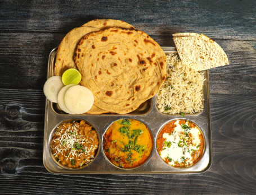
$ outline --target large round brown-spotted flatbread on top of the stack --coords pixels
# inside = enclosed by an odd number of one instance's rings
[[[80,84],[93,92],[94,104],[125,114],[158,92],[167,74],[166,58],[145,32],[109,27],[85,35],[74,59]]]

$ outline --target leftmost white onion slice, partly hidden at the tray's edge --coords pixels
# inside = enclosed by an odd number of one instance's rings
[[[44,83],[44,95],[47,97],[48,100],[54,103],[58,103],[57,97],[62,87],[64,87],[64,84],[62,83],[60,76],[50,77],[48,78],[46,83]]]

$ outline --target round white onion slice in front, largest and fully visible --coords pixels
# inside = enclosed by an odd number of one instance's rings
[[[71,112],[83,114],[92,108],[94,97],[87,87],[75,85],[66,91],[64,102]]]

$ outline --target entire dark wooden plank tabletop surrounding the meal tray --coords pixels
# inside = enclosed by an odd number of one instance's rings
[[[0,194],[256,194],[256,2],[0,1]],[[114,18],[161,46],[200,32],[227,53],[211,69],[213,162],[203,174],[58,175],[43,166],[47,61],[65,34]]]

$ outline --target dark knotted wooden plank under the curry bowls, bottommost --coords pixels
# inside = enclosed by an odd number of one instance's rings
[[[210,97],[213,162],[205,173],[59,175],[48,173],[43,167],[42,91],[1,89],[0,193],[46,194],[65,189],[65,193],[72,194],[254,194],[256,97]]]

